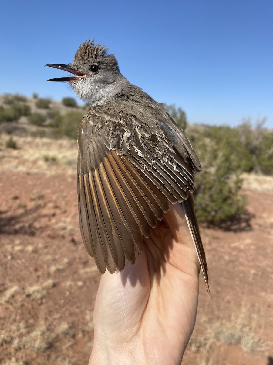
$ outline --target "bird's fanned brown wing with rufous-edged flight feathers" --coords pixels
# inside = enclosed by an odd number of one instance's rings
[[[101,273],[122,270],[125,256],[133,264],[135,251],[143,251],[143,235],[149,237],[170,202],[186,201],[193,191],[189,162],[163,131],[155,135],[133,119],[89,111],[78,131],[80,230]]]

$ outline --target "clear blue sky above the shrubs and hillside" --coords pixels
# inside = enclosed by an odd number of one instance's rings
[[[81,42],[110,49],[120,71],[191,123],[266,116],[273,127],[273,1],[5,1],[0,22],[0,93],[74,93],[64,72]]]

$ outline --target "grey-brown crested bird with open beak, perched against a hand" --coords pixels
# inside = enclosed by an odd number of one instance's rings
[[[131,84],[102,43],[80,44],[71,64],[47,64],[73,74],[69,82],[90,107],[78,129],[78,208],[84,246],[100,273],[135,262],[143,236],[170,204],[185,212],[198,260],[209,282],[194,212],[194,173],[201,163],[166,107]]]

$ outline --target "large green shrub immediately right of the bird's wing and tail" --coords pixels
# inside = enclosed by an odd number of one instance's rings
[[[195,175],[195,200],[201,206],[196,214],[200,222],[220,225],[245,210],[246,198],[239,194],[244,161],[232,128],[201,129],[202,133],[198,128],[194,133],[194,148],[203,168]]]

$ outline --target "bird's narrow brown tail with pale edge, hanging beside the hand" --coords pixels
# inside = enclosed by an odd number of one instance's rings
[[[193,206],[193,197],[189,194],[189,197],[183,201],[182,207],[185,212],[187,224],[189,226],[191,238],[193,239],[194,247],[198,256],[198,260],[201,265],[201,269],[205,278],[205,283],[207,286],[207,293],[210,294],[209,289],[209,278],[207,276],[207,263],[206,263],[206,255],[203,248],[202,240],[200,237],[199,226],[197,222],[196,215],[194,213],[194,206]]]

